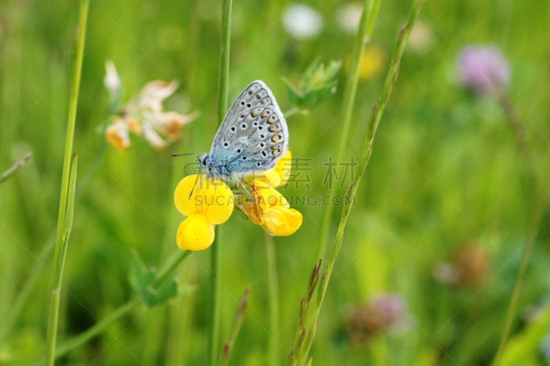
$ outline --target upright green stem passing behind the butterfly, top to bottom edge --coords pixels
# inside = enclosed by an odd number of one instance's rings
[[[223,0],[221,10],[221,48],[219,59],[219,85],[218,85],[218,124],[221,124],[228,106],[228,84],[229,84],[229,46],[231,35],[231,8],[232,0]],[[210,333],[208,345],[210,347],[209,364],[215,366],[218,363],[219,355],[219,322],[220,307],[219,297],[221,293],[221,238],[220,230],[216,227],[214,244],[211,247],[210,258]]]

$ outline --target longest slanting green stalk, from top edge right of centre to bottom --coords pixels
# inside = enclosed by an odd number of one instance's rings
[[[340,224],[338,225],[336,238],[333,241],[331,255],[327,263],[325,274],[321,278],[320,286],[318,289],[318,299],[316,303],[316,308],[314,309],[314,314],[311,317],[309,330],[307,331],[307,334],[306,334],[305,352],[303,352],[302,356],[300,357],[300,360],[301,360],[300,365],[305,365],[307,361],[307,357],[309,355],[309,351],[311,350],[311,345],[313,344],[313,341],[314,341],[316,327],[317,327],[317,320],[322,307],[322,302],[325,299],[325,295],[327,293],[327,288],[329,286],[329,281],[331,278],[331,273],[332,273],[334,264],[336,263],[336,258],[338,257],[340,248],[342,247],[342,242],[344,241],[344,230],[346,228],[351,207],[353,205],[353,202],[355,201],[355,196],[357,195],[359,183],[361,182],[363,174],[366,170],[366,166],[369,164],[369,160],[371,159],[371,154],[373,151],[374,136],[375,136],[378,124],[380,123],[380,118],[382,117],[382,113],[384,111],[384,107],[386,106],[386,102],[388,102],[388,98],[391,94],[393,85],[397,80],[399,63],[401,62],[401,56],[403,55],[403,51],[408,39],[408,34],[412,29],[412,25],[415,24],[415,21],[422,7],[422,4],[423,4],[423,0],[417,0],[415,1],[415,3],[413,3],[408,16],[407,23],[399,31],[399,34],[397,36],[397,41],[393,49],[390,68],[386,75],[384,88],[382,89],[382,95],[380,96],[380,99],[377,101],[377,103],[375,104],[375,106],[371,111],[371,115],[369,117],[368,132],[366,135],[363,152],[360,159],[360,161],[362,162],[362,166],[361,166],[361,169],[358,171],[358,173],[355,174],[355,177],[351,182],[351,184],[349,185],[349,188],[347,191],[344,209],[342,210],[342,217],[340,219]]]

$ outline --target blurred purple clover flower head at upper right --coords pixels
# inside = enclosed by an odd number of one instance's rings
[[[467,45],[459,52],[462,84],[478,94],[489,94],[508,86],[508,61],[496,45]]]

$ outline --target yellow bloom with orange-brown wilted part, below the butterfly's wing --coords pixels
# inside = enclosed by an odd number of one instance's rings
[[[274,236],[289,236],[302,225],[302,214],[290,208],[287,199],[274,187],[254,181],[252,198],[241,196],[235,205],[248,219]]]

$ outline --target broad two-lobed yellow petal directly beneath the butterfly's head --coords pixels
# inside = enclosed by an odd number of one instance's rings
[[[221,179],[208,179],[197,174],[181,179],[174,192],[174,203],[181,214],[204,214],[214,225],[230,218],[233,201],[233,192]]]

